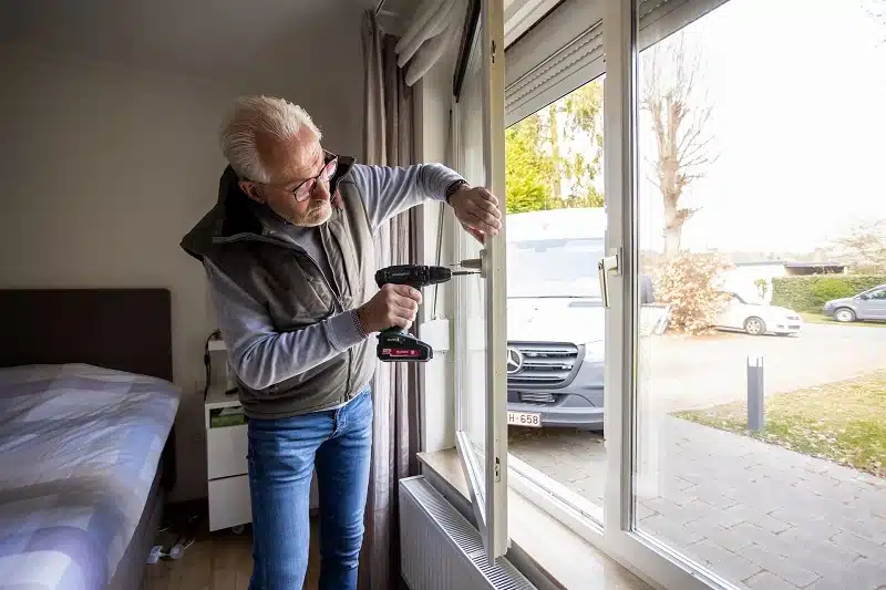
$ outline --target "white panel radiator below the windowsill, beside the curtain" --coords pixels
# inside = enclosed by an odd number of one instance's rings
[[[424,477],[400,482],[400,549],[411,590],[536,590]]]

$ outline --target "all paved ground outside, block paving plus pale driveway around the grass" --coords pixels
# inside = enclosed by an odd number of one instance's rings
[[[641,345],[638,526],[742,589],[886,589],[886,479],[668,415],[886,368],[886,329],[804,327],[799,338],[652,337]],[[509,433],[511,453],[597,506],[599,434]]]

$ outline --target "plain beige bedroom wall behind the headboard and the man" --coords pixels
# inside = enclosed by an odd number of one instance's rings
[[[0,46],[0,288],[172,290],[185,393],[173,499],[206,487],[198,382],[215,321],[202,268],[178,242],[216,200],[218,125],[240,93],[282,94],[313,115],[328,148],[359,155],[359,54],[337,68],[287,93]]]

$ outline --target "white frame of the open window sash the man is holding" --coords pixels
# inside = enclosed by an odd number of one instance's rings
[[[482,118],[484,125],[483,167],[486,188],[504,198],[505,194],[505,127],[504,127],[504,0],[483,0],[480,23],[471,43],[471,60],[481,59],[483,84]],[[471,72],[468,65],[467,71]],[[461,116],[453,104],[452,136],[454,164],[464,169],[464,149],[460,133]],[[459,260],[465,258],[467,240],[474,238],[455,224],[454,240]],[[471,504],[491,561],[507,552],[507,373],[506,373],[506,289],[505,237],[487,236],[481,250],[485,288],[486,383],[484,392],[465,386],[464,351],[468,343],[467,318],[464,314],[462,290],[455,289],[455,414],[456,446],[471,491]],[[501,343],[496,345],[497,343]],[[485,465],[470,451],[470,437],[462,425],[462,405],[466,395],[484,395],[485,401]]]

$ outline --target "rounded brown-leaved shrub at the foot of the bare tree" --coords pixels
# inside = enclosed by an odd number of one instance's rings
[[[718,255],[683,253],[670,260],[657,277],[661,301],[670,303],[668,329],[690,334],[709,332],[729,296],[717,284],[731,262]]]

